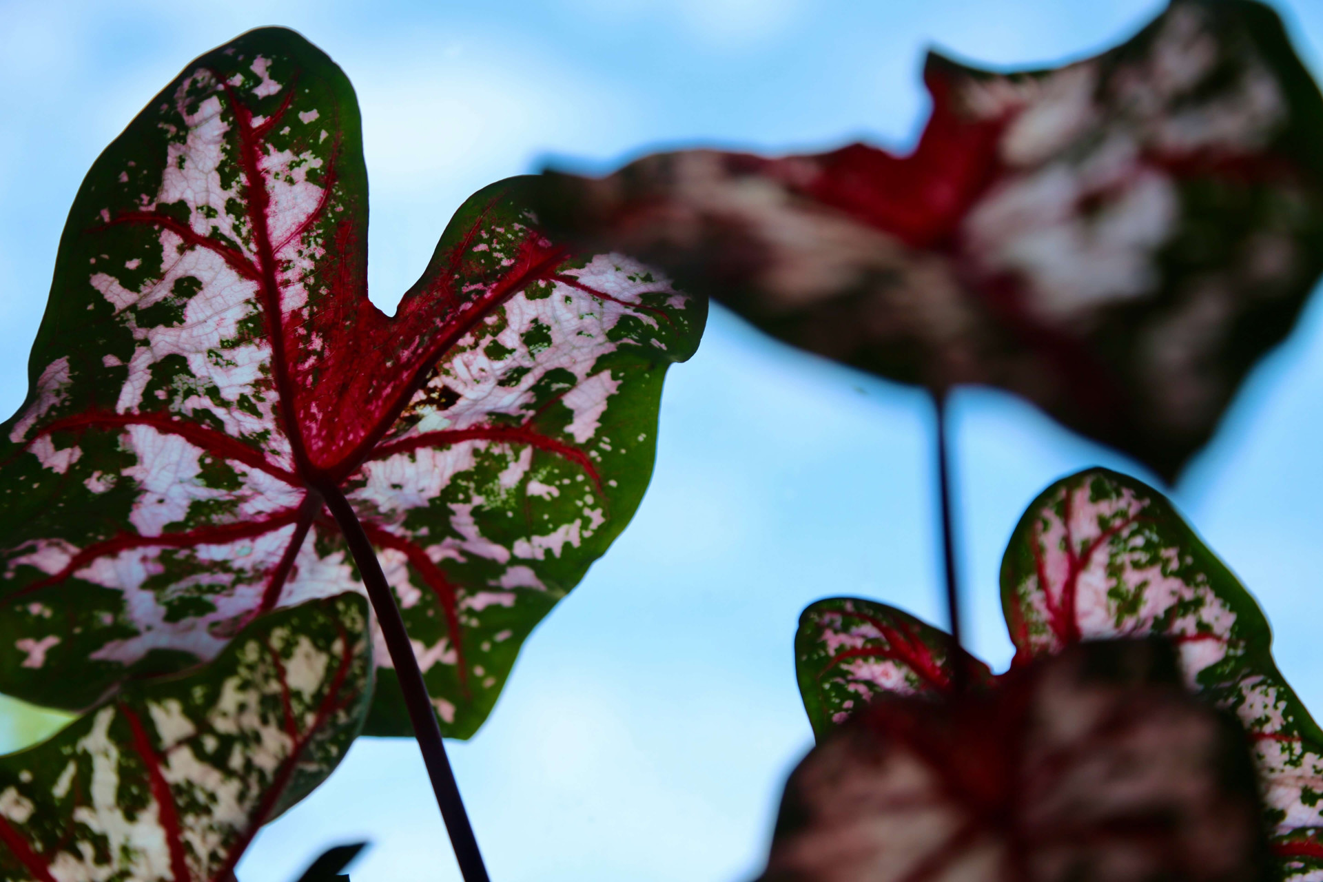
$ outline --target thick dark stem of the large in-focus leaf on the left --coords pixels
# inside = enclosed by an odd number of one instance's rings
[[[427,764],[431,789],[437,793],[437,805],[441,807],[441,816],[446,821],[446,832],[450,833],[450,845],[455,850],[459,871],[464,877],[464,882],[488,882],[487,867],[483,865],[482,852],[478,850],[474,828],[468,822],[464,801],[459,796],[459,784],[455,783],[455,774],[446,756],[446,743],[441,738],[437,711],[427,696],[427,684],[423,682],[422,670],[418,669],[418,659],[409,643],[405,620],[400,616],[400,608],[396,606],[390,586],[386,584],[377,553],[373,550],[363,524],[359,522],[353,506],[349,505],[349,500],[344,497],[340,488],[325,481],[316,489],[321,493],[327,508],[331,509],[331,514],[349,543],[349,553],[353,555],[353,562],[359,565],[363,584],[368,588],[368,599],[372,600],[372,608],[377,612],[377,623],[386,639],[390,661],[396,666],[396,677],[400,678],[400,689],[405,696],[405,706],[409,709],[414,737],[418,739],[418,747],[422,748],[422,759]]]

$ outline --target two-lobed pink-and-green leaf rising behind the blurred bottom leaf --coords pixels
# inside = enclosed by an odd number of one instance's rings
[[[1080,641],[1171,641],[1185,685],[1249,734],[1278,878],[1323,874],[1323,731],[1277,669],[1258,603],[1162,493],[1105,468],[1049,487],[1011,536],[1002,607],[1012,670]],[[871,600],[804,610],[795,661],[819,741],[869,698],[949,694],[937,655],[949,639]],[[1003,677],[991,680],[1002,688]]]

